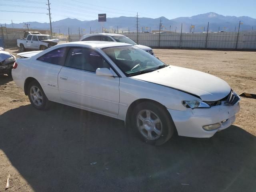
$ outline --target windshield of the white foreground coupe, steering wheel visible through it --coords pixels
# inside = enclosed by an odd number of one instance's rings
[[[119,46],[102,49],[126,74],[134,76],[167,66],[162,61],[136,46]]]

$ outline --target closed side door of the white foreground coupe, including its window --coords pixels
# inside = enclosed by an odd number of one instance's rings
[[[112,70],[108,62],[95,50],[70,48],[65,66],[58,75],[60,97],[64,102],[88,110],[117,115],[119,78],[97,76],[97,68]]]

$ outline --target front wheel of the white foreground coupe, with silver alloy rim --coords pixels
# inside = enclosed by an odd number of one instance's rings
[[[142,102],[134,108],[132,127],[144,142],[156,146],[167,142],[175,130],[166,108],[154,102]]]

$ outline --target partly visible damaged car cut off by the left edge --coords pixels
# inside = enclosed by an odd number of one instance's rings
[[[12,75],[12,66],[16,57],[0,47],[0,74]]]

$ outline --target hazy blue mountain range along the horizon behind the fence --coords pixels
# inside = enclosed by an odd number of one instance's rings
[[[175,19],[167,19],[165,17],[160,18],[138,18],[138,28],[140,31],[142,27],[148,27],[148,29],[144,28],[144,31],[149,30],[159,30],[160,20],[162,21],[162,30],[170,30],[175,32],[180,32],[181,23],[182,23],[182,32],[190,32],[190,26],[195,26],[192,31],[193,32],[203,32],[207,30],[207,25],[209,22],[209,31],[227,31],[234,32],[238,30],[239,21],[241,21],[240,30],[241,31],[250,31],[252,27],[256,30],[256,19],[248,17],[248,16],[223,16],[220,14],[216,14],[214,12],[209,12],[205,14],[199,14],[191,17],[178,17]],[[40,22],[26,22],[26,24],[30,24],[30,28],[32,29],[49,29],[49,23],[40,23]],[[4,24],[2,24],[4,26]],[[24,28],[23,23],[14,23],[14,28]],[[6,24],[6,27],[12,28],[12,24]],[[68,34],[68,28],[70,29],[71,34],[78,34],[78,28],[80,28],[80,32],[82,33],[90,33],[90,29],[92,32],[102,32],[102,27],[106,29],[115,29],[121,31],[136,31],[136,18],[135,17],[125,17],[120,16],[116,18],[107,18],[107,22],[100,23],[98,20],[78,20],[72,18],[66,18],[63,20],[52,22],[53,32],[56,33],[64,33]]]

